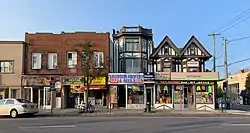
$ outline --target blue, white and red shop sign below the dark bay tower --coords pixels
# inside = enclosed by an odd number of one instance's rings
[[[143,73],[109,73],[109,84],[143,84]]]

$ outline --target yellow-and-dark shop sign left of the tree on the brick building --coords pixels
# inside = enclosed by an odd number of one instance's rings
[[[62,77],[62,85],[83,85],[83,76]]]

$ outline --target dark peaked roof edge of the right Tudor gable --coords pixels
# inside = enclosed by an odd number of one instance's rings
[[[180,55],[182,56],[184,52],[187,50],[187,48],[194,43],[200,50],[205,54],[206,57],[212,57],[212,55],[203,47],[203,45],[198,41],[198,39],[193,35],[189,41],[186,43],[186,45],[182,48]]]

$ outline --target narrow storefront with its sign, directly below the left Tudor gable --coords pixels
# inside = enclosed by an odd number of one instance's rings
[[[170,80],[170,72],[155,72],[155,108],[172,109],[172,85],[166,83]]]

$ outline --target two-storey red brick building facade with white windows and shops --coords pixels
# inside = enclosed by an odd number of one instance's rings
[[[76,99],[79,102],[79,97],[84,92],[74,88],[82,87],[84,83],[81,80],[83,77],[79,65],[81,59],[73,47],[86,41],[91,41],[101,56],[109,58],[109,33],[26,33],[25,70],[22,78],[25,93],[22,97],[38,103],[41,108],[50,108],[51,103],[55,103],[56,108],[74,107]],[[102,84],[93,87],[90,96],[95,99],[95,103],[105,105],[106,77],[101,79]],[[55,83],[56,88],[56,93],[52,94],[51,81]]]

